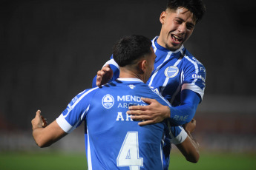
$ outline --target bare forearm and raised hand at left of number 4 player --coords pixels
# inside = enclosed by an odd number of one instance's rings
[[[50,146],[68,134],[62,130],[56,120],[47,126],[45,119],[41,116],[40,110],[36,112],[36,117],[31,120],[31,124],[33,138],[40,148]]]

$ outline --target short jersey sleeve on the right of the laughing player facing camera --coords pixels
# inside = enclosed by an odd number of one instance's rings
[[[194,57],[186,58],[186,68],[183,72],[183,89],[190,89],[200,95],[200,101],[203,100],[204,89],[206,87],[206,68]]]

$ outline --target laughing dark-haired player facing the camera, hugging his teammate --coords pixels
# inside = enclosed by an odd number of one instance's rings
[[[171,124],[183,125],[194,118],[198,104],[203,100],[206,69],[188,50],[184,43],[193,33],[197,21],[203,17],[205,6],[201,0],[169,0],[166,10],[160,15],[160,35],[152,40],[157,55],[154,71],[148,80],[155,92],[163,95],[172,107],[166,107],[154,99],[145,98],[148,106],[130,106],[133,120],[145,120],[141,126],[159,123],[168,119]],[[113,77],[112,77],[113,76]],[[118,64],[113,58],[97,72],[93,86],[99,86],[119,76]],[[165,157],[171,144],[165,141]]]

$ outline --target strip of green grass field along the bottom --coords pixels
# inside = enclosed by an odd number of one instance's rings
[[[180,153],[171,153],[169,169],[189,170],[244,170],[256,169],[256,154],[201,153],[198,163],[188,163]],[[59,152],[18,152],[1,153],[1,170],[79,170],[87,169],[85,154]]]

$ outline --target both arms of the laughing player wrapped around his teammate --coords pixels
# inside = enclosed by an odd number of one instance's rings
[[[93,80],[93,86],[101,86],[118,78],[116,72],[118,72],[116,67],[106,64],[97,72]],[[154,99],[143,98],[142,100],[149,105],[130,106],[127,112],[128,115],[132,115],[131,118],[134,120],[145,120],[139,123],[140,126],[159,123],[166,118],[169,118],[174,125],[179,126],[190,122],[194,118],[197,106],[200,103],[200,96],[189,89],[183,89],[181,91],[181,104],[176,107],[163,106]]]

